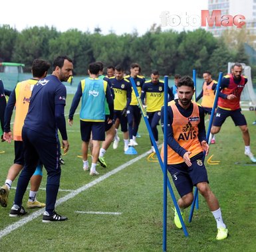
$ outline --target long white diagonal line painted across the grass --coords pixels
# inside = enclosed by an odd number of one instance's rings
[[[74,198],[76,195],[80,194],[80,192],[84,192],[85,190],[87,190],[88,188],[95,186],[96,184],[102,182],[103,180],[105,180],[106,178],[116,174],[117,172],[120,172],[120,170],[123,170],[124,168],[126,168],[127,166],[130,166],[130,164],[133,164],[134,162],[137,162],[138,160],[140,160],[141,158],[146,157],[149,154],[149,152],[146,152],[136,158],[133,158],[132,160],[126,162],[125,164],[122,164],[120,166],[118,166],[117,168],[115,168],[114,170],[111,170],[110,172],[100,176],[99,178],[96,178],[95,180],[93,180],[92,182],[85,184],[84,186],[70,192],[69,194],[67,194],[66,196],[64,196],[63,198],[60,198],[59,200],[57,200],[56,205],[55,206],[59,206],[62,203],[66,202],[67,200],[70,200],[72,198]],[[21,220],[8,225],[7,227],[5,227],[4,229],[0,230],[0,239],[2,237],[4,237],[5,235],[8,235],[9,233],[11,233],[13,230],[22,227],[23,225],[25,225],[26,223],[28,223],[29,221],[34,220],[35,218],[41,216],[43,214],[43,212],[45,212],[45,209],[41,209],[41,210],[37,210],[36,212],[33,212],[32,214],[29,214],[29,216],[27,217],[23,217]]]

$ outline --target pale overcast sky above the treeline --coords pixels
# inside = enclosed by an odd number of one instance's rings
[[[90,3],[90,5],[88,4]],[[95,5],[94,7],[92,5]],[[152,24],[161,25],[162,12],[166,17],[181,17],[186,23],[186,15],[201,16],[201,10],[207,9],[207,0],[191,1],[2,1],[0,25],[7,24],[21,31],[33,26],[53,26],[58,31],[76,28],[79,31],[93,32],[100,27],[103,34],[114,31],[123,34],[138,31],[144,34]],[[168,23],[169,22],[169,23]],[[170,26],[170,21],[162,29],[182,31],[193,30],[199,26]]]

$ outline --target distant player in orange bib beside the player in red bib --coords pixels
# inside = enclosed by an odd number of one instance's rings
[[[203,107],[203,111],[206,114],[211,115],[211,109],[213,107],[214,99],[215,99],[215,89],[217,87],[217,82],[211,78],[211,72],[205,71],[203,72],[203,88],[201,93],[197,96],[195,101],[201,100],[201,107]],[[215,136],[213,135],[211,139],[211,144],[215,143]]]

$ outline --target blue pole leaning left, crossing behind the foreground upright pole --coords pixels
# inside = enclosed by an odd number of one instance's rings
[[[165,76],[165,78],[166,77],[168,78],[168,76]],[[136,84],[134,82],[134,78],[131,77],[130,78],[130,82],[132,84],[132,88],[133,88],[134,93],[136,95],[136,98],[138,100],[138,105],[140,106],[140,109],[142,111],[142,117],[144,118],[144,121],[146,123],[146,127],[148,129],[148,133],[150,134],[150,139],[152,140],[152,143],[153,143],[154,148],[156,150],[156,155],[158,157],[158,160],[159,160],[159,163],[160,163],[160,167],[162,169],[162,172],[164,172],[164,163],[163,163],[162,158],[160,156],[160,153],[159,153],[159,150],[158,150],[158,146],[156,145],[156,140],[154,139],[154,135],[152,133],[152,129],[150,127],[150,123],[148,122],[148,117],[147,117],[147,114],[146,114],[146,109],[144,109],[144,107],[142,105],[142,100],[140,99],[140,95],[138,94],[138,90],[136,88]],[[164,90],[164,92],[168,92],[168,89]],[[172,197],[172,201],[174,202],[174,206],[175,206],[175,208],[177,210],[178,216],[180,218],[180,222],[182,223],[182,229],[184,231],[184,235],[188,236],[188,231],[187,231],[186,225],[184,223],[184,220],[182,219],[182,214],[180,213],[180,208],[178,206],[178,203],[177,203],[177,200],[175,198],[174,191],[172,190],[172,186],[170,184],[170,180],[169,180],[168,176],[166,177],[166,180],[167,180],[168,189],[169,189],[171,197]]]

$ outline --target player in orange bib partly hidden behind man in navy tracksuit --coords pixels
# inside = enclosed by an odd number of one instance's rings
[[[29,110],[29,101],[31,99],[31,93],[33,87],[37,82],[47,76],[47,71],[50,68],[50,64],[45,60],[36,59],[32,64],[33,78],[19,82],[9,97],[6,109],[5,109],[5,128],[4,139],[11,143],[11,116],[13,115],[13,109],[16,107],[15,120],[13,125],[13,140],[15,147],[15,159],[14,164],[9,168],[5,184],[0,189],[0,204],[3,207],[7,206],[7,200],[9,196],[9,190],[11,190],[11,184],[13,180],[18,176],[19,172],[24,166],[24,148],[21,136],[22,127],[24,124],[27,111]],[[35,173],[31,177],[31,190],[29,192],[29,201],[27,202],[27,208],[44,208],[45,204],[37,201],[37,191],[41,184],[43,176],[43,166],[37,165]]]

